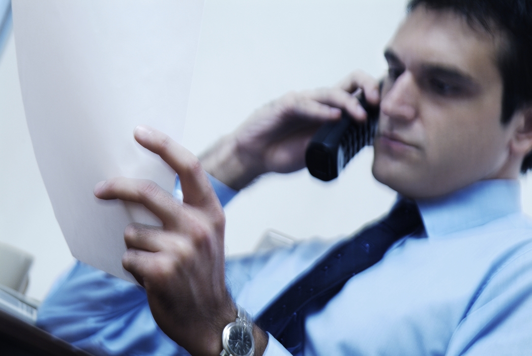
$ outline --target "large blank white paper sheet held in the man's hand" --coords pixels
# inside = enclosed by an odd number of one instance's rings
[[[145,123],[180,140],[203,0],[13,0],[16,55],[35,155],[72,255],[117,277],[123,230],[160,223],[136,204],[104,202],[114,176],[174,173],[138,145]]]

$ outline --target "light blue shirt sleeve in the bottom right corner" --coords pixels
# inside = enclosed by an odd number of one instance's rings
[[[487,277],[456,328],[447,356],[532,350],[532,248]]]

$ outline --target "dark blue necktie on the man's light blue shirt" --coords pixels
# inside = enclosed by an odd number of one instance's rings
[[[255,322],[292,353],[304,342],[305,316],[325,307],[348,279],[377,263],[401,237],[422,227],[415,202],[402,199],[388,215],[338,244],[297,278]]]

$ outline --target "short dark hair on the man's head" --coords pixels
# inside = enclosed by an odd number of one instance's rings
[[[502,116],[510,122],[516,110],[532,103],[532,0],[411,0],[408,12],[419,5],[431,10],[451,10],[463,15],[472,28],[501,35],[503,46],[497,65],[503,81]],[[532,152],[521,172],[532,169]]]

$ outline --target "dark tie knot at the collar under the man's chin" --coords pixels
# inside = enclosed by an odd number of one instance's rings
[[[423,225],[419,213],[418,204],[413,200],[401,198],[383,223],[392,229],[397,235],[408,235]]]

